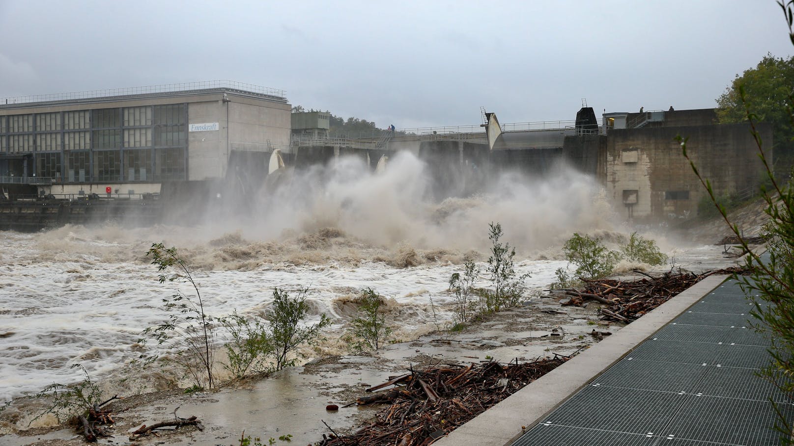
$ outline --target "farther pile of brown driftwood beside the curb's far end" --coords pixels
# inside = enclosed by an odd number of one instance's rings
[[[584,280],[584,287],[580,290],[565,290],[565,294],[572,297],[568,301],[561,303],[564,306],[584,306],[586,299],[592,299],[606,305],[600,310],[603,315],[601,317],[602,320],[630,322],[667,302],[669,298],[695,285],[709,275],[742,274],[746,271],[738,267],[708,271],[701,275],[696,275],[689,271],[668,271],[658,277],[642,271],[635,272],[646,275],[647,278],[630,281],[614,279]]]

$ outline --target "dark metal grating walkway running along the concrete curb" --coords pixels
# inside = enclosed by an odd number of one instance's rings
[[[727,280],[512,446],[781,444],[770,400],[791,421],[794,404],[756,375],[769,340],[750,327],[752,309]]]

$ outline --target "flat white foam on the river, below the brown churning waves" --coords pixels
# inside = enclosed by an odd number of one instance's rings
[[[0,282],[2,400],[79,377],[69,368],[75,363],[83,364],[92,376],[109,375],[140,355],[137,340],[143,329],[165,320],[162,298],[177,288],[191,294],[187,284],[158,283],[156,268],[141,259],[145,247],[137,242],[111,243],[82,228],[71,228],[65,235],[64,244],[53,250],[52,233],[0,233],[5,263]],[[188,251],[204,249],[212,248]],[[112,260],[119,252],[128,252],[131,259]],[[52,260],[41,261],[44,258]],[[562,264],[524,260],[517,269],[532,271],[527,284],[540,287]],[[272,302],[273,287],[308,286],[312,317],[326,313],[337,329],[351,316],[340,299],[372,287],[403,307],[393,316],[410,330],[429,323],[431,296],[440,307],[449,302],[449,275],[458,269],[453,264],[393,267],[368,260],[267,263],[243,270],[199,270],[195,279],[208,313],[214,315],[234,309],[261,315]]]

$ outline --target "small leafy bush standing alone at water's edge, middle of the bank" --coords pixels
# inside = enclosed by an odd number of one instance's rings
[[[372,288],[361,290],[357,299],[358,313],[350,321],[350,333],[346,337],[350,346],[357,352],[377,350],[391,340],[392,329],[386,325],[386,318],[380,312],[383,298]]]

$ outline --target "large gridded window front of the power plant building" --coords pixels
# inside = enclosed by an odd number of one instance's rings
[[[0,152],[64,182],[186,179],[187,104],[2,116]]]

